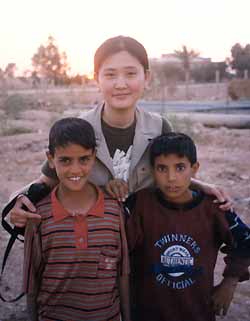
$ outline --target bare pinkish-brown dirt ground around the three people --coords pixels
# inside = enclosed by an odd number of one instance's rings
[[[29,115],[26,117],[27,126],[35,128],[35,133],[0,137],[1,208],[13,191],[39,175],[44,160],[51,115],[39,111],[27,115]],[[55,119],[54,116],[52,118]],[[193,132],[201,163],[199,178],[223,186],[233,197],[238,213],[250,224],[250,129],[209,129],[195,125]],[[7,233],[0,230],[0,263],[7,238]],[[22,254],[22,245],[19,243],[9,259],[6,273],[0,282],[0,291],[6,297],[12,297],[20,292]],[[220,256],[216,268],[217,281],[220,279],[222,269],[223,261]],[[26,320],[24,299],[16,304],[0,301],[0,321],[15,320]],[[250,320],[249,282],[237,287],[234,301],[224,320]]]

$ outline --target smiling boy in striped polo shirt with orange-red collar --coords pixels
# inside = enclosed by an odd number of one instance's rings
[[[95,134],[83,119],[57,121],[48,161],[59,184],[25,231],[24,290],[30,320],[129,321],[127,244],[121,210],[88,181]],[[126,302],[125,302],[126,301]]]

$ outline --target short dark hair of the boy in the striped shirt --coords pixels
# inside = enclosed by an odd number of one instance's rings
[[[49,133],[49,152],[52,156],[57,147],[69,144],[80,145],[86,149],[96,148],[95,132],[86,120],[76,117],[62,118],[54,123]]]

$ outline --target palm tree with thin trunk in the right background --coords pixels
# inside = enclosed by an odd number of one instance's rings
[[[189,99],[188,86],[190,80],[191,63],[195,57],[199,56],[199,53],[193,49],[188,50],[186,46],[182,46],[182,50],[175,50],[175,56],[182,62],[182,68],[185,72],[186,98]]]

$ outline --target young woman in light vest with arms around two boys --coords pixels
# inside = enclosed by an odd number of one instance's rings
[[[153,183],[150,173],[148,146],[156,136],[171,131],[171,124],[162,117],[145,112],[137,102],[150,80],[145,48],[137,40],[118,36],[106,40],[94,57],[95,79],[103,95],[103,103],[82,117],[95,129],[97,138],[96,164],[90,181],[103,186],[111,196],[124,200],[128,193]],[[57,178],[47,163],[37,182],[53,187]],[[228,199],[218,187],[198,181],[193,185],[218,201]],[[22,209],[26,205],[28,211]],[[225,209],[230,201],[222,205]],[[33,212],[33,213],[32,213]],[[37,217],[34,205],[20,196],[11,211],[11,222],[23,227],[28,218]]]

